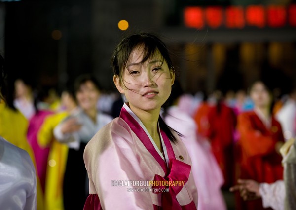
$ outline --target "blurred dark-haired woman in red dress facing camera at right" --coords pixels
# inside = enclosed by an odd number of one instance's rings
[[[281,125],[271,114],[271,92],[262,81],[250,88],[254,110],[238,116],[240,157],[236,178],[272,183],[283,179],[279,148],[284,142]],[[237,209],[263,210],[262,201],[243,201],[237,195]]]

